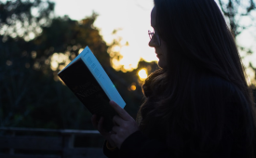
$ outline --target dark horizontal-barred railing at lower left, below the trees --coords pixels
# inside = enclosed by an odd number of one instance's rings
[[[78,136],[101,138],[97,130],[0,127],[0,157],[105,158],[99,147],[75,147]]]

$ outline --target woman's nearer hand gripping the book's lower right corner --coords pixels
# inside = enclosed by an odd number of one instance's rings
[[[115,123],[110,133],[110,138],[113,143],[120,149],[122,143],[129,135],[139,130],[136,121],[122,109],[115,101],[110,101],[110,105],[114,108],[118,115],[115,115],[113,121]]]

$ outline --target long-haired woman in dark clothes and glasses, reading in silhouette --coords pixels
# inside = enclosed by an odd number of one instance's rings
[[[161,69],[142,86],[137,122],[118,113],[106,138],[108,157],[255,158],[254,103],[236,43],[214,0],[155,0],[151,13]]]

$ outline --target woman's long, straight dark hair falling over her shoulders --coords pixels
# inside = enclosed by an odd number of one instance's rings
[[[199,151],[207,151],[209,136],[220,145],[228,114],[241,122],[248,157],[255,157],[254,102],[234,36],[219,7],[214,0],[154,2],[155,29],[168,44],[168,66],[152,73],[142,86],[146,99],[137,117],[141,131],[162,140],[175,133],[177,151],[189,143],[184,136],[200,137]],[[242,115],[233,116],[227,109]]]

